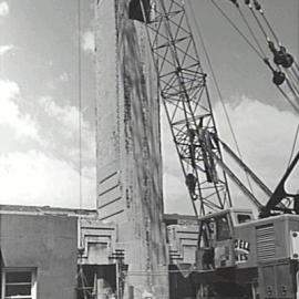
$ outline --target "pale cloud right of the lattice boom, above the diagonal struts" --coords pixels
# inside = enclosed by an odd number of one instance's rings
[[[237,106],[227,105],[227,110],[245,161],[270,187],[275,187],[287,167],[298,117],[246,96],[240,96]],[[220,111],[217,104],[219,134],[233,145]]]

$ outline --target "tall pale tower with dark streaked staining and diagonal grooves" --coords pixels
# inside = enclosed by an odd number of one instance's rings
[[[97,208],[100,219],[118,226],[126,287],[134,287],[135,298],[147,291],[163,299],[168,298],[168,261],[159,103],[146,34],[143,24],[130,20],[128,3],[97,1],[95,7]]]

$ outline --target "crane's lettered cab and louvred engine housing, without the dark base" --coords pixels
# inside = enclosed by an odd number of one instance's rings
[[[199,219],[197,269],[257,267],[275,259],[299,259],[299,216],[255,219],[250,210],[229,208]]]

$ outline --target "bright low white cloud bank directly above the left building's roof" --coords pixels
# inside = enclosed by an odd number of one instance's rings
[[[95,173],[83,172],[83,206],[95,205]],[[79,173],[65,161],[29,151],[0,156],[1,204],[80,207]]]

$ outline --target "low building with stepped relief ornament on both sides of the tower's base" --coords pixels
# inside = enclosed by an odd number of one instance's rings
[[[197,227],[190,216],[164,215],[164,224],[169,293],[182,298],[190,291],[185,274],[194,261]],[[142,274],[125,264],[124,248],[117,226],[99,220],[96,210],[2,205],[1,299],[122,298],[125,282],[130,298],[142,298],[150,292],[138,289],[141,296],[134,296],[131,277]]]

